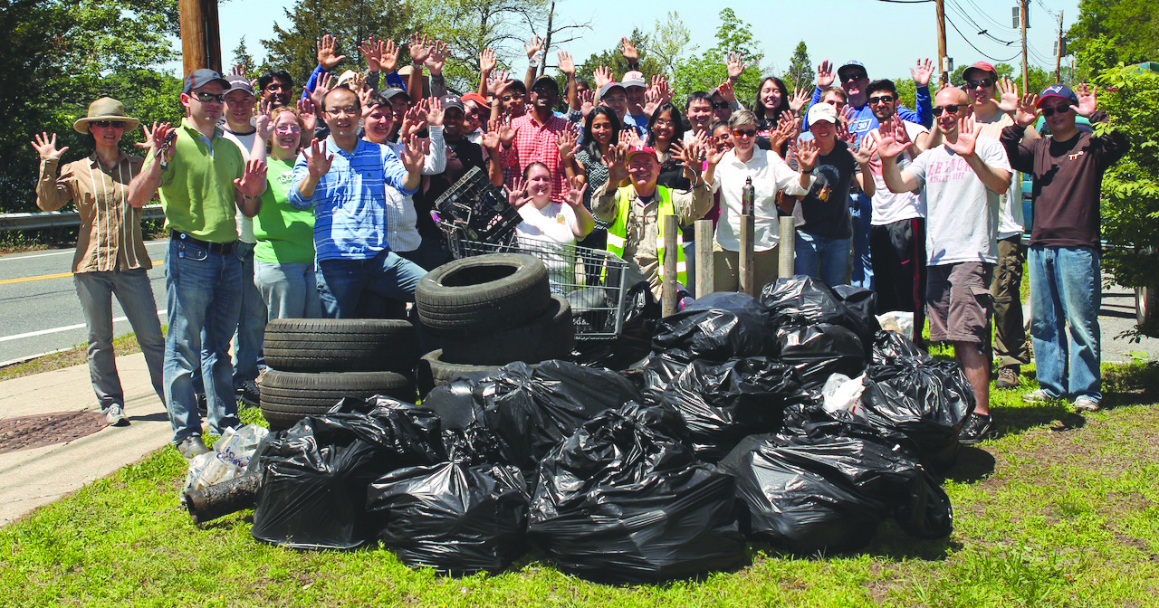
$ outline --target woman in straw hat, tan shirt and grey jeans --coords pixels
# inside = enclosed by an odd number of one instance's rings
[[[73,123],[78,133],[90,134],[95,151],[87,159],[57,166],[68,147],[57,148],[57,135],[41,133],[32,147],[41,155],[36,204],[56,211],[73,200],[80,212],[80,233],[73,257],[73,284],[88,325],[88,371],[105,420],[129,424],[124,391],[114,361],[112,295],[129,317],[148,365],[153,389],[165,401],[162,359],[165,339],[156,316],[153,288],[146,271],[153,263],[141,240],[140,210],[129,205],[129,182],[144,159],[121,152],[117,144],[140,120],[125,115],[119,101],[101,97],[88,115]],[[145,129],[146,138],[152,131]],[[140,146],[140,144],[138,144]]]

